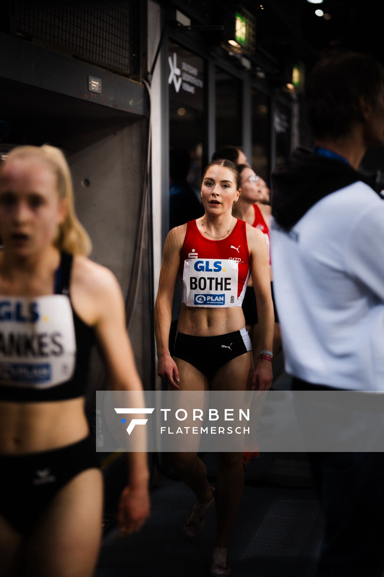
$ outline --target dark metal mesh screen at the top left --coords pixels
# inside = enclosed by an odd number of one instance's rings
[[[131,3],[16,0],[17,32],[130,74]]]

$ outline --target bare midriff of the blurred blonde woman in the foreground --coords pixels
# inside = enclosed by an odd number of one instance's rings
[[[26,455],[65,447],[89,428],[84,398],[35,403],[0,402],[0,454]]]

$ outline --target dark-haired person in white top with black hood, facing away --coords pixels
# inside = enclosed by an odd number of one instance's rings
[[[384,390],[384,203],[358,172],[384,143],[384,70],[332,54],[307,82],[313,151],[272,177],[271,248],[286,371],[301,390]],[[318,577],[381,577],[384,456],[310,455],[325,513]],[[381,527],[381,529],[378,529]]]

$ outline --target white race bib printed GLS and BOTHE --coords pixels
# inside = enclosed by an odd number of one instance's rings
[[[183,302],[187,306],[236,306],[238,264],[229,258],[188,258],[184,261]]]

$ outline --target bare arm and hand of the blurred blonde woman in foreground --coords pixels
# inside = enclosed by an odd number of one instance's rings
[[[137,391],[139,402],[137,406],[144,407],[142,384],[127,334],[126,313],[120,285],[109,269],[92,263],[88,259],[84,259],[83,263],[78,263],[76,268],[82,280],[80,294],[88,297],[86,313],[89,316],[89,324],[94,325],[96,329],[97,339],[109,369],[110,388]],[[86,275],[81,274],[85,271]],[[90,306],[92,308],[89,308]],[[149,516],[150,508],[147,454],[127,452],[127,458],[128,485],[121,493],[117,514],[122,534],[139,530]]]

